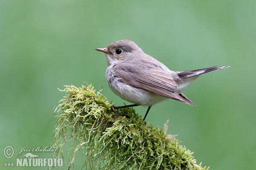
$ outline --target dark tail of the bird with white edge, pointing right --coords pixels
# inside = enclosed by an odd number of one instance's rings
[[[184,78],[199,76],[201,74],[205,74],[205,73],[208,73],[208,72],[211,72],[211,71],[219,70],[219,69],[222,69],[222,68],[228,68],[228,67],[230,67],[230,66],[219,66],[219,65],[217,65],[217,66],[198,69],[198,70],[181,71],[180,73],[178,73],[178,76],[181,79],[184,79]]]

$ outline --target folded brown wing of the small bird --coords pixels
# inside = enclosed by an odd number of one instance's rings
[[[176,82],[157,68],[134,68],[134,65],[123,62],[113,66],[113,75],[134,88],[194,105],[190,100],[175,93]]]

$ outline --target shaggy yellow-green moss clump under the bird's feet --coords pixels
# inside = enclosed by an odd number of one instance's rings
[[[66,96],[61,99],[53,145],[58,147],[71,141],[70,161],[76,151],[85,152],[84,169],[104,170],[205,170],[197,165],[190,150],[186,150],[164,129],[145,125],[132,108],[114,110],[102,90],[95,94],[92,85],[65,86]],[[69,167],[69,169],[72,166]],[[209,169],[209,168],[207,168]]]

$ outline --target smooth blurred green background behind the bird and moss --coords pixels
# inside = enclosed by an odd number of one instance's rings
[[[0,150],[51,146],[64,85],[103,85],[104,95],[123,105],[108,88],[105,55],[94,50],[123,39],[174,71],[230,65],[183,91],[197,106],[169,99],[146,121],[163,127],[169,119],[168,133],[202,166],[255,169],[255,0],[0,0]],[[147,108],[135,109],[144,116]],[[47,169],[4,167],[16,157],[2,152],[0,169]],[[79,152],[74,169],[84,159]]]

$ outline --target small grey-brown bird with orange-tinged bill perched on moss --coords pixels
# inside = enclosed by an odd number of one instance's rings
[[[116,41],[107,48],[95,50],[106,55],[106,79],[111,91],[122,99],[134,103],[114,108],[148,106],[143,121],[152,105],[168,98],[195,105],[181,91],[201,74],[229,67],[213,66],[191,71],[171,71],[129,40]]]

